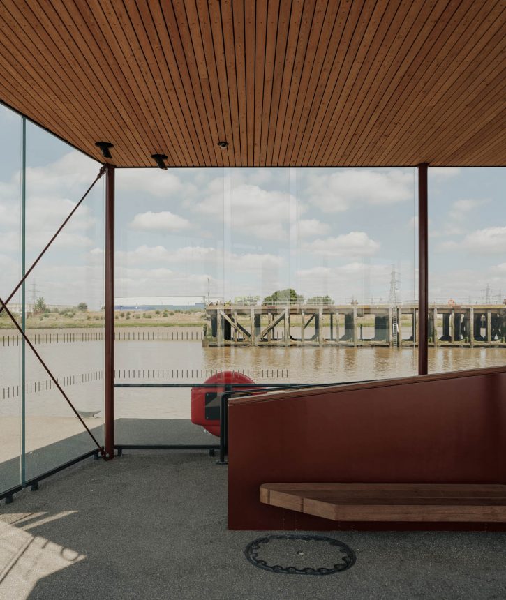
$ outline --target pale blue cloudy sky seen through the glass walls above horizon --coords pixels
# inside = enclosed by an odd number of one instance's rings
[[[20,119],[0,107],[0,293],[19,276]],[[33,258],[100,165],[27,126],[27,254]],[[429,170],[430,295],[506,294],[506,170]],[[387,301],[392,266],[416,297],[413,169],[117,170],[117,296],[265,297],[294,287]],[[103,181],[37,267],[47,303],[99,306]]]

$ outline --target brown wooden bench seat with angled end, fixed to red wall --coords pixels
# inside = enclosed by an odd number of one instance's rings
[[[260,502],[334,521],[506,522],[506,486],[263,483]]]

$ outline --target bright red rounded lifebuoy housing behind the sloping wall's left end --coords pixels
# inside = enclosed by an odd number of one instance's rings
[[[220,437],[219,395],[225,391],[225,384],[255,382],[242,373],[223,371],[223,373],[211,375],[204,383],[223,384],[223,387],[193,387],[191,389],[191,422],[195,425],[202,425],[209,433]]]

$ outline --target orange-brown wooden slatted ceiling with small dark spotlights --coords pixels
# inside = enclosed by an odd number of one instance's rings
[[[122,167],[505,166],[505,49],[505,0],[3,0],[0,100]]]

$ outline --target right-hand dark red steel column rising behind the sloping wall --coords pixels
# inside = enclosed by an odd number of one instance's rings
[[[427,171],[418,165],[418,375],[428,372],[429,338],[429,218],[427,209]]]

